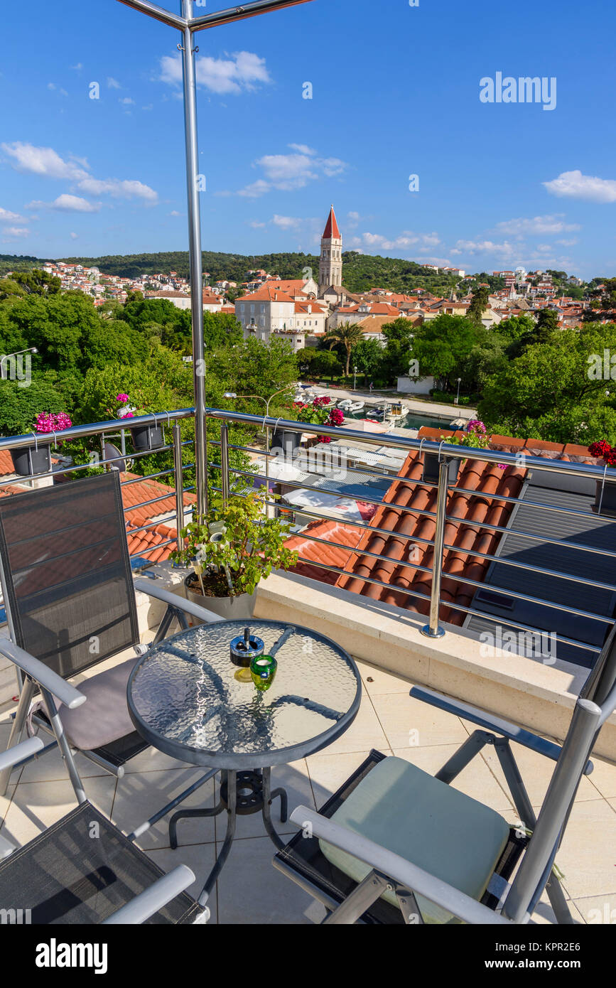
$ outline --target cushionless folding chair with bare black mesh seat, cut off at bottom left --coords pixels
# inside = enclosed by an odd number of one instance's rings
[[[0,755],[9,770],[43,747],[30,738]],[[19,850],[0,835],[0,911],[12,925],[195,924],[209,910],[186,894],[186,864],[163,871],[89,802]]]

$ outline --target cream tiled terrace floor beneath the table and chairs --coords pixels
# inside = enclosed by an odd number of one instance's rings
[[[363,700],[346,734],[327,751],[272,772],[273,783],[287,788],[290,808],[300,802],[321,806],[371,748],[407,758],[435,773],[472,730],[465,721],[411,699],[406,680],[365,663],[358,665],[364,683]],[[7,744],[9,713],[0,716],[0,749]],[[549,782],[551,763],[514,747],[531,800],[538,807]],[[594,773],[581,783],[557,859],[579,923],[596,922],[597,911],[616,920],[616,766],[593,761]],[[89,798],[126,833],[197,778],[197,770],[151,748],[130,763],[119,781],[83,757],[78,758],[78,765]],[[516,822],[500,767],[490,751],[475,759],[456,784]],[[208,785],[185,805],[212,804],[213,782]],[[51,752],[13,774],[6,796],[0,798],[2,833],[14,843],[24,844],[74,805],[61,760]],[[224,825],[223,817],[184,821],[179,829],[181,847],[172,851],[163,820],[144,836],[141,846],[164,870],[181,863],[192,867],[197,882],[191,890],[196,892],[220,849]],[[295,828],[293,824],[281,826],[278,821],[278,830],[291,834]],[[211,922],[320,922],[322,907],[272,867],[272,856],[273,847],[264,836],[261,817],[239,817],[231,856],[209,902]],[[547,901],[540,904],[534,919],[539,923],[553,920]]]

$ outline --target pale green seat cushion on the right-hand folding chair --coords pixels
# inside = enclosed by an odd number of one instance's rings
[[[495,810],[394,757],[359,782],[332,820],[478,901],[509,836],[509,825]],[[368,874],[367,864],[327,841],[319,843],[328,861],[354,881]],[[394,892],[383,898],[398,905]],[[457,922],[423,896],[418,905],[425,923]]]

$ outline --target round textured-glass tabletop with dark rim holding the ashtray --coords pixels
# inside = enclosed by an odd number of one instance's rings
[[[277,672],[266,693],[236,679],[231,640],[250,626]],[[352,723],[361,698],[357,668],[329,638],[282,621],[201,624],[150,649],[132,670],[128,709],[139,733],[193,765],[253,769],[295,761],[327,747]]]

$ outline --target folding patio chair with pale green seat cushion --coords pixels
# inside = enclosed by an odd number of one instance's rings
[[[435,777],[372,752],[320,813],[297,807],[291,820],[301,831],[273,864],[323,903],[328,924],[527,923],[544,889],[557,922],[574,923],[554,863],[581,777],[592,772],[588,757],[616,708],[616,625],[562,746],[431,690],[411,696],[478,729]],[[511,741],[556,763],[538,819]],[[448,784],[486,744],[509,786],[515,826]]]

